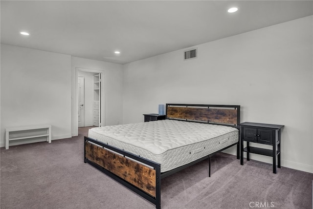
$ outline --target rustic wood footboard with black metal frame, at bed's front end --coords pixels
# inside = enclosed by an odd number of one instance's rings
[[[84,139],[84,162],[161,208],[160,164],[89,137]]]

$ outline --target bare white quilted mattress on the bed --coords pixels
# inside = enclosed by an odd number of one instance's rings
[[[237,128],[176,120],[89,129],[88,136],[161,165],[161,172],[238,142]]]

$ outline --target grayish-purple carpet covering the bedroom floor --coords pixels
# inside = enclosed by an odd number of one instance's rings
[[[88,127],[71,139],[1,148],[1,209],[154,209],[83,161]],[[162,209],[312,209],[313,173],[220,153],[162,179]],[[258,207],[257,207],[258,206]],[[262,206],[262,207],[260,207]]]

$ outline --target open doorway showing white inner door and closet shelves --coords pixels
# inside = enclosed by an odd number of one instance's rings
[[[104,125],[102,72],[76,68],[77,128]]]

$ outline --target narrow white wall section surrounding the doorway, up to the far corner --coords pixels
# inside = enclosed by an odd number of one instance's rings
[[[85,68],[98,70],[104,73],[104,107],[105,125],[117,125],[123,123],[123,65],[94,61],[78,57],[72,57],[72,136],[77,131],[77,108],[75,108],[76,96],[76,69]]]

